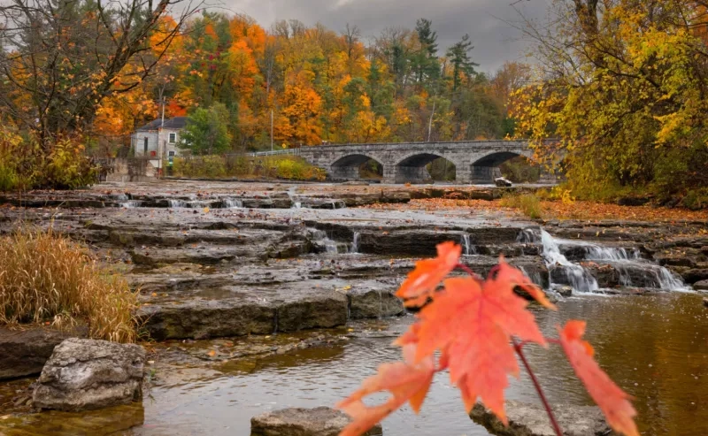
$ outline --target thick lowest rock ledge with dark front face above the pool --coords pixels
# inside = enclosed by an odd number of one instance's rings
[[[396,287],[367,280],[304,280],[274,287],[187,289],[142,297],[137,316],[154,340],[206,339],[332,328],[404,313]]]

